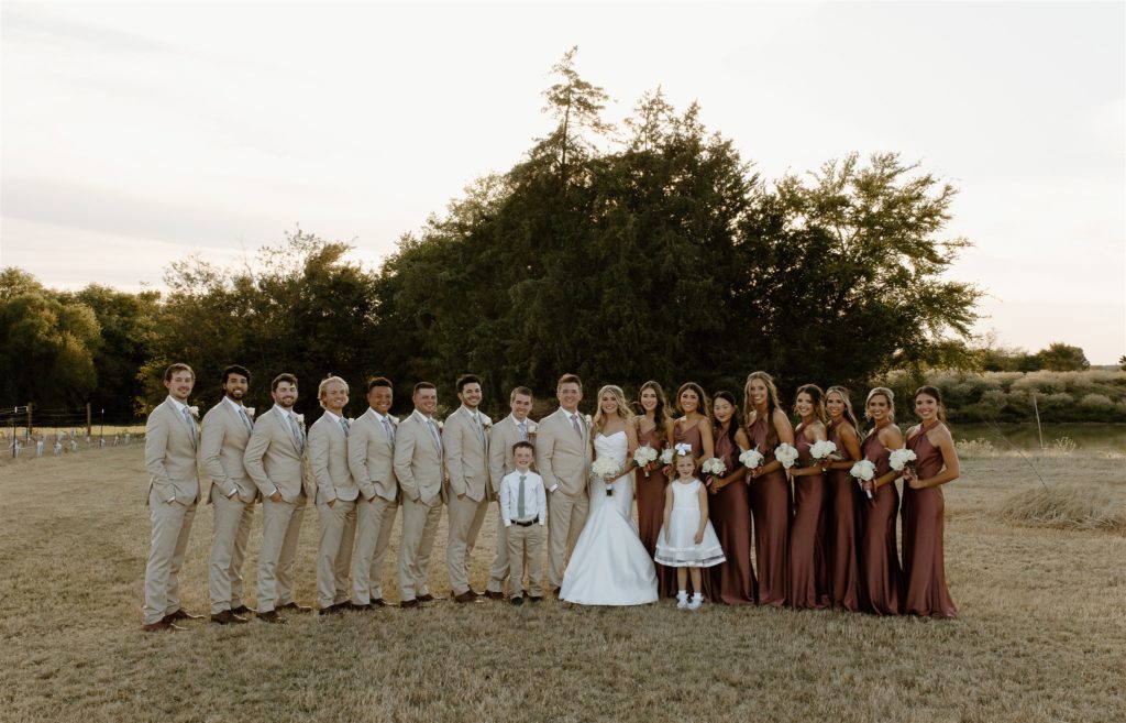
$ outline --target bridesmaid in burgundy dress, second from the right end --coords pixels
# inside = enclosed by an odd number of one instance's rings
[[[868,392],[865,417],[873,428],[864,439],[865,459],[876,465],[876,476],[866,483],[874,499],[864,506],[860,534],[860,560],[864,570],[864,591],[868,612],[876,615],[900,614],[900,560],[895,554],[895,518],[900,493],[895,489],[896,472],[888,457],[892,449],[903,447],[903,432],[895,426],[895,395],[892,390],[877,386]]]

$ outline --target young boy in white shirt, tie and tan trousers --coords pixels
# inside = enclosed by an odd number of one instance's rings
[[[528,571],[528,600],[544,599],[544,529],[547,525],[547,493],[544,480],[531,471],[535,447],[528,441],[512,445],[513,472],[500,481],[500,515],[508,533],[508,560],[511,566],[512,605],[524,604],[524,571]]]

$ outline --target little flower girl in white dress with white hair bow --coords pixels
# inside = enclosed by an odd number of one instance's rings
[[[700,568],[724,562],[720,538],[707,519],[707,489],[696,479],[696,458],[688,445],[677,445],[672,463],[677,479],[664,492],[664,525],[653,559],[677,569],[677,607],[695,610],[704,604]],[[688,600],[688,573],[692,599]]]

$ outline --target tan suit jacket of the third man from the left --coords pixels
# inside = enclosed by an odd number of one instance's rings
[[[312,496],[313,489],[305,474],[305,455],[285,414],[274,405],[258,418],[242,463],[262,497],[269,497],[277,488],[282,499],[292,503],[301,498],[303,490]],[[302,430],[302,437],[304,434]]]

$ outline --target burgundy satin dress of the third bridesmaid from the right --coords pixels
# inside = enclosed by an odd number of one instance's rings
[[[841,458],[848,455],[839,435],[843,421],[840,419],[829,427],[829,441],[837,445]],[[834,608],[856,613],[866,607],[859,550],[863,501],[867,498],[848,470],[830,470],[828,476],[825,560],[829,563],[829,597]]]

